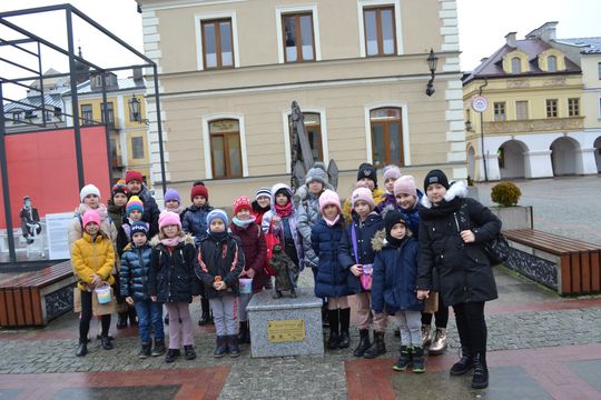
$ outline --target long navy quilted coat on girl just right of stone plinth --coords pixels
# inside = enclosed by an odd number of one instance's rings
[[[321,298],[338,298],[348,296],[348,269],[338,261],[341,239],[344,234],[342,217],[334,226],[328,227],[324,219],[311,230],[311,243],[318,258],[315,296]]]

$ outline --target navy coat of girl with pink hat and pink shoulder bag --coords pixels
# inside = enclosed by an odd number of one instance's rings
[[[338,261],[346,270],[357,263],[355,261],[355,250],[353,248],[352,227],[355,227],[357,239],[356,247],[358,254],[356,259],[358,259],[359,264],[371,264],[374,263],[375,258],[375,252],[372,248],[372,239],[378,230],[384,229],[384,221],[378,213],[372,212],[367,216],[365,222],[361,222],[358,216],[353,211],[353,222],[344,230],[344,234],[341,239],[341,250],[338,252]],[[348,271],[347,282],[348,290],[352,294],[364,291],[361,287],[359,279],[351,271]]]

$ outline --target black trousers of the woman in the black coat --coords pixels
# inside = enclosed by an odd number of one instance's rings
[[[474,353],[486,351],[486,321],[484,320],[484,301],[467,302],[453,306],[455,322],[461,346]]]

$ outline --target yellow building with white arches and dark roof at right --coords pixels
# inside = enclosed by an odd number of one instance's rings
[[[598,173],[594,62],[583,62],[584,46],[555,39],[555,27],[548,22],[523,40],[509,33],[502,48],[464,76],[467,173],[474,180]],[[474,99],[482,104],[482,97],[487,108],[476,112]]]

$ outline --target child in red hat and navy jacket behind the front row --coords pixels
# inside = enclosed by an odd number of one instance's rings
[[[194,243],[198,248],[200,241],[207,236],[207,216],[213,211],[213,207],[208,204],[208,190],[205,183],[197,182],[190,190],[190,200],[193,204],[184,211],[181,218],[181,229],[184,232],[194,237]],[[204,326],[213,322],[213,318],[209,311],[209,301],[204,293],[204,287],[200,288],[200,307],[201,313],[198,320],[199,326]]]

